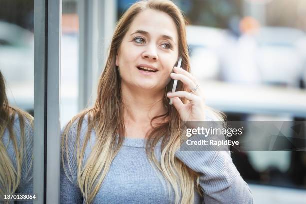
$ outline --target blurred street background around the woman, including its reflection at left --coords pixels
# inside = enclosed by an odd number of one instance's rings
[[[115,23],[135,0],[101,2],[62,0],[62,125],[94,101]],[[228,120],[305,121],[306,0],[173,2],[189,24],[191,71],[208,106]],[[33,8],[34,0],[0,0],[0,69],[10,103],[31,114]],[[232,158],[255,203],[306,203],[305,150]]]

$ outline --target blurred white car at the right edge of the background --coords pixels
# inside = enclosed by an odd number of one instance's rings
[[[305,70],[303,31],[288,27],[262,27],[254,36],[256,61],[265,84],[299,86]]]

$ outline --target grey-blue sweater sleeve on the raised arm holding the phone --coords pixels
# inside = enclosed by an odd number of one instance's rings
[[[211,118],[206,116],[207,121],[212,121]],[[253,203],[249,186],[233,164],[230,151],[214,150],[213,147],[210,150],[181,148],[175,156],[190,169],[200,173],[203,203]]]

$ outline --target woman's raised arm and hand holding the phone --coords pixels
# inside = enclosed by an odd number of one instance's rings
[[[174,72],[171,73],[171,78],[180,80],[186,86],[187,91],[172,92],[167,96],[173,98],[173,105],[181,120],[213,121],[213,119],[207,119],[204,97],[195,77],[177,67],[174,67]],[[184,104],[180,98],[186,98],[189,102]],[[190,151],[188,149],[188,151],[178,150],[175,155],[189,168],[201,174],[200,186],[204,192],[206,204],[253,202],[249,187],[232,163],[229,151],[214,149]]]

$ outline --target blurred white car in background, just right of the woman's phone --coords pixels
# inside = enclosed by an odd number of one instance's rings
[[[197,79],[261,83],[254,40],[213,27],[191,25],[186,30],[191,71]]]

